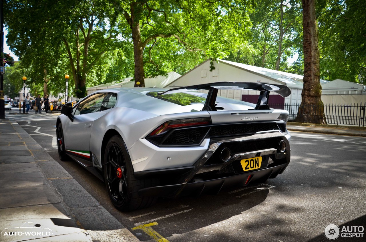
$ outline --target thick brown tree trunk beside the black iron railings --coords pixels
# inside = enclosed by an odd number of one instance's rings
[[[315,17],[315,0],[302,0],[304,78],[301,104],[296,121],[324,123],[324,104],[321,101],[318,30]]]

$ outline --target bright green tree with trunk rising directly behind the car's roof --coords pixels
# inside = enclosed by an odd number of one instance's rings
[[[117,22],[122,32],[126,31],[126,22],[130,29],[124,38],[132,39],[134,45],[135,87],[136,82],[145,86],[146,63],[159,70],[150,54],[161,39],[175,39],[178,52],[184,49],[183,53],[197,51],[218,58],[229,53],[240,39],[239,33],[245,35],[250,23],[246,1],[116,0],[114,5],[121,16]]]

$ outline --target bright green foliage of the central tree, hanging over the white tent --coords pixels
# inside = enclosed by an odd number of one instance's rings
[[[132,38],[137,66],[143,62],[140,71],[146,73],[139,78],[183,74],[207,58],[236,51],[249,33],[248,6],[243,0],[114,1],[120,33]]]

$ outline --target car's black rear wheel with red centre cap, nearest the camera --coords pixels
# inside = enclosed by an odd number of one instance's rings
[[[155,179],[137,179],[123,139],[116,135],[107,143],[104,152],[104,181],[112,204],[121,211],[131,211],[151,206],[156,197],[142,197],[138,191],[155,186]]]

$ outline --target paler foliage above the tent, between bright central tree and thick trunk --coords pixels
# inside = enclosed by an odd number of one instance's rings
[[[287,58],[302,49],[302,15],[299,0],[259,0],[250,20],[253,24],[247,41],[243,39],[238,52],[226,59],[239,63],[289,70]]]

